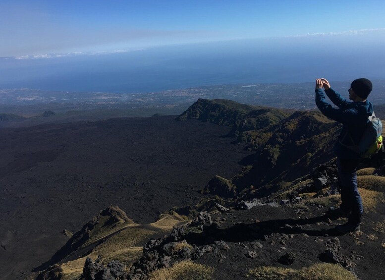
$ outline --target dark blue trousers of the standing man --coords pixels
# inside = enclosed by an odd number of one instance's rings
[[[350,212],[349,223],[358,225],[364,212],[361,195],[357,188],[357,166],[360,160],[337,158],[338,178],[341,184],[341,207]]]

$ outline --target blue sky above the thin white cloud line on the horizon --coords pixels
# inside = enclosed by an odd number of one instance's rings
[[[383,0],[1,0],[0,57],[356,31],[376,40],[384,14]]]

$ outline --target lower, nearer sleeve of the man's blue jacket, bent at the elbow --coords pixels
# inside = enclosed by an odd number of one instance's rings
[[[357,114],[354,109],[341,110],[333,108],[326,101],[326,97],[322,89],[316,89],[316,105],[324,115],[344,124],[350,123],[352,117]]]

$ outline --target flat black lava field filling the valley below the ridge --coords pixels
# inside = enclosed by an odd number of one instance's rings
[[[136,223],[196,204],[215,174],[250,152],[230,127],[175,116],[44,124],[0,131],[0,279],[24,279],[101,209]]]

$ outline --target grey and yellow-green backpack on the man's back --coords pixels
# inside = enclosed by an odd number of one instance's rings
[[[349,134],[350,136],[350,133],[348,133],[348,131],[346,132],[344,137],[342,137],[342,140],[339,141],[339,144],[358,153],[362,159],[369,158],[373,154],[377,153],[378,151],[380,151],[383,145],[383,136],[381,135],[383,133],[383,124],[381,120],[376,117],[374,112],[371,116],[368,117],[368,120],[369,121],[366,125],[364,134],[362,135],[358,145],[347,146],[341,143],[343,139],[345,139],[347,134]],[[351,136],[350,139],[352,140],[352,143],[354,143]]]

